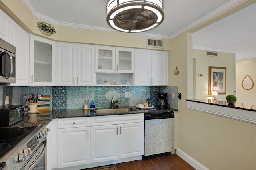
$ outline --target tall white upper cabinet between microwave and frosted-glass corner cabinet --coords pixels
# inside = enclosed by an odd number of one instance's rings
[[[10,43],[16,47],[16,83],[10,86],[29,86],[29,34],[11,20]]]

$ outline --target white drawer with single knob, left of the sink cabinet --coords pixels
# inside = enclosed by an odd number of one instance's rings
[[[58,128],[89,127],[90,117],[58,119]]]

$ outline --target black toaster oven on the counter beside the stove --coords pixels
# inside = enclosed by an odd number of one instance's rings
[[[0,106],[0,127],[8,127],[22,120],[25,113],[24,105]]]

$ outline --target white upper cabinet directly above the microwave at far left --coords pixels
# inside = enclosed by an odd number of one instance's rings
[[[0,38],[10,43],[10,22],[11,18],[0,10]]]

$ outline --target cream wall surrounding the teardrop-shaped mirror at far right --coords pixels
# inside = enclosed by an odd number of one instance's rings
[[[242,80],[249,75],[254,87],[246,90],[242,87]],[[236,97],[239,103],[256,105],[256,58],[236,61]]]

